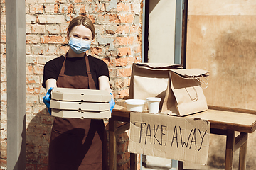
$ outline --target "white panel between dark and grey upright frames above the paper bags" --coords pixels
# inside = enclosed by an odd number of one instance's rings
[[[174,63],[176,0],[149,1],[149,62]]]

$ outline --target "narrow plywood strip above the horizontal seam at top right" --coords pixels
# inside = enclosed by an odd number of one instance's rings
[[[193,0],[188,1],[188,15],[255,16],[255,0]]]

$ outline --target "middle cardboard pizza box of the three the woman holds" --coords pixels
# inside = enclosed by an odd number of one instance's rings
[[[108,111],[110,110],[110,103],[50,100],[50,108],[75,111]]]

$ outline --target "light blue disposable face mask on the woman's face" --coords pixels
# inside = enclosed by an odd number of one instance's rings
[[[91,41],[78,40],[76,38],[70,37],[68,45],[75,53],[81,54],[82,52],[86,52],[90,49],[91,43]]]

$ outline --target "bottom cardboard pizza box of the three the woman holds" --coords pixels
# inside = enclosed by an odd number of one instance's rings
[[[111,118],[111,111],[67,111],[52,108],[51,115],[59,118],[104,119]]]

